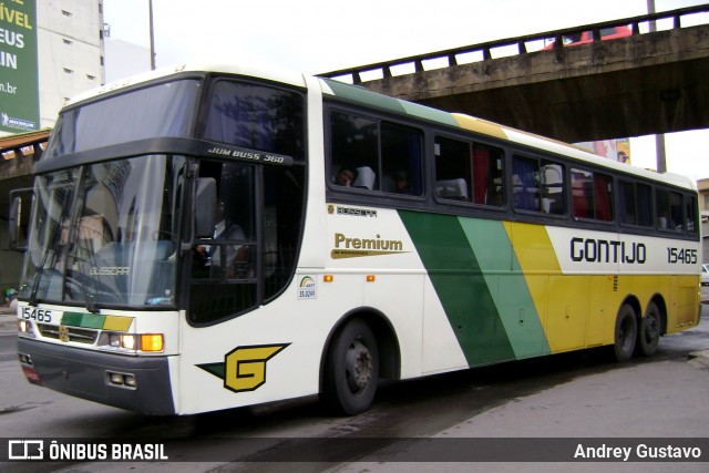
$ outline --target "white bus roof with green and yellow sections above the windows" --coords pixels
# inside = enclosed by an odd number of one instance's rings
[[[299,72],[289,70],[276,69],[268,65],[263,65],[254,62],[248,63],[186,63],[177,64],[155,71],[148,71],[138,75],[133,75],[126,79],[121,79],[107,83],[101,88],[96,88],[79,94],[68,101],[66,105],[76,104],[84,100],[89,100],[101,94],[112,92],[119,89],[123,89],[131,85],[137,85],[144,82],[150,82],[156,79],[165,78],[171,74],[178,73],[225,73],[237,74],[251,78],[259,78],[269,81],[290,84],[299,88],[307,88],[307,81],[305,76]],[[408,102],[401,99],[382,95],[376,92],[368,91],[361,86],[346,84],[332,79],[320,79],[320,85],[322,93],[346,99],[351,102],[360,103],[393,112],[397,114],[405,114],[414,116],[425,121],[436,122],[452,127],[459,127],[462,130],[472,131],[475,133],[493,136],[503,141],[512,143],[518,143],[524,146],[534,147],[537,150],[561,154],[564,156],[571,156],[582,162],[589,164],[614,168],[620,172],[630,173],[637,176],[643,176],[648,179],[660,181],[667,184],[697,188],[697,184],[690,178],[672,173],[658,174],[654,171],[644,169],[640,167],[631,166],[624,163],[614,162],[596,154],[589,153],[577,146],[568,143],[563,143],[556,140],[547,138],[544,136],[535,135],[533,133],[515,130],[510,126],[500,125],[497,123],[489,122],[483,119],[479,119],[462,113],[449,113],[438,109],[432,109],[425,105],[421,105],[413,102]]]

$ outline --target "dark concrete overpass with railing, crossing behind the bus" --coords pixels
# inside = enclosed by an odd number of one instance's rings
[[[703,4],[320,75],[571,143],[706,128],[707,23]],[[602,41],[617,27],[631,35]],[[593,41],[563,45],[583,32]]]

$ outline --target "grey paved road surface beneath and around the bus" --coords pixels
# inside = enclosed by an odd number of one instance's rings
[[[294,473],[517,473],[595,472],[603,467],[604,471],[620,472],[639,469],[706,472],[709,470],[707,463],[442,462],[440,451],[435,452],[435,462],[404,462],[412,452],[423,451],[429,439],[482,439],[480,442],[484,442],[484,439],[503,438],[506,439],[503,442],[507,442],[514,438],[600,438],[612,442],[621,438],[689,438],[706,441],[709,438],[709,369],[702,350],[709,349],[709,307],[703,312],[699,327],[665,337],[651,359],[617,364],[599,358],[597,350],[589,350],[431,377],[386,387],[370,412],[339,419],[323,415],[314,399],[187,418],[145,418],[89,403],[27,383],[13,358],[12,332],[6,330],[0,332],[0,377],[3,381],[0,431],[8,435],[45,438],[141,438],[156,442],[179,439],[184,441],[179,453],[198,461],[16,463],[0,465],[0,470],[175,473],[270,472],[287,467]],[[700,356],[688,360],[689,353]],[[234,438],[266,438],[274,439],[274,443],[254,446],[242,442],[236,445]],[[294,439],[296,449],[309,452],[310,456],[319,454],[318,460],[328,461],[268,463],[287,438]],[[327,440],[322,443],[319,439]],[[340,442],[347,439],[373,442],[359,443],[349,455],[337,451],[347,446]],[[512,442],[510,446],[512,457],[515,445]],[[552,441],[551,445],[556,443]],[[709,448],[707,450],[705,454],[709,454]],[[453,452],[451,459],[455,454],[460,454],[460,450]],[[247,457],[249,463],[244,462]]]

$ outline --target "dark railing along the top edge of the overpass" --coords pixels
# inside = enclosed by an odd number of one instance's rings
[[[413,65],[413,72],[404,72],[404,73],[395,74],[395,75],[405,75],[407,73],[417,73],[417,72],[427,71],[428,69],[425,69],[424,66],[424,63],[427,62],[430,62],[430,63],[435,62],[436,64],[441,64],[441,63],[444,64],[444,65],[432,66],[430,68],[431,70],[441,69],[444,66],[455,66],[455,65],[460,65],[459,56],[462,56],[464,54],[476,54],[477,56],[482,55],[482,60],[487,61],[487,60],[497,59],[497,58],[493,58],[493,50],[511,48],[511,47],[517,48],[517,54],[526,54],[528,43],[533,43],[537,41],[544,42],[545,40],[549,40],[549,39],[554,40],[553,49],[561,50],[564,48],[564,44],[563,44],[564,37],[580,34],[585,31],[593,32],[594,42],[596,42],[596,41],[600,41],[600,30],[604,30],[607,28],[630,25],[633,35],[637,35],[637,34],[641,34],[640,32],[641,23],[649,24],[650,22],[671,19],[672,20],[671,29],[678,29],[678,28],[682,28],[681,25],[682,17],[697,14],[697,13],[709,13],[709,4],[687,7],[687,8],[657,12],[657,13],[648,13],[639,17],[631,17],[631,18],[625,18],[625,19],[613,20],[613,21],[604,21],[602,23],[585,24],[580,27],[547,31],[543,33],[526,34],[522,37],[508,38],[503,40],[487,41],[483,43],[471,44],[471,45],[465,45],[461,48],[453,48],[453,49],[448,49],[448,50],[436,51],[436,52],[429,52],[424,54],[418,54],[418,55],[395,59],[391,61],[376,62],[367,65],[340,69],[337,71],[325,72],[318,75],[321,78],[331,78],[337,80],[347,80],[349,78],[349,81],[351,83],[358,85],[358,84],[361,84],[362,82],[367,82],[366,80],[362,80],[362,74],[367,74],[367,73],[374,76],[373,79],[370,79],[370,80],[379,80],[379,79],[388,79],[388,78],[394,76],[394,73],[392,72],[393,68],[405,68],[408,65],[409,69],[411,69],[411,65]],[[535,52],[535,51],[530,51],[530,52]],[[508,55],[511,54],[505,54],[504,56],[508,56]],[[448,63],[445,63],[445,61],[448,61]],[[470,63],[470,62],[476,62],[476,61],[467,61],[466,63]]]

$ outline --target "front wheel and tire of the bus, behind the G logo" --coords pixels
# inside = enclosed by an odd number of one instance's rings
[[[337,413],[369,409],[377,392],[379,349],[371,328],[354,319],[337,332],[328,352],[323,399]]]

